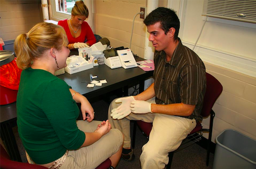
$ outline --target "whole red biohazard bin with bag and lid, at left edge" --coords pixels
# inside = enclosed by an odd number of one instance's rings
[[[21,69],[12,51],[0,51],[0,105],[16,102]]]

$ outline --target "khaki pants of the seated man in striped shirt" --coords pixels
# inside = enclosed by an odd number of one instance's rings
[[[154,100],[148,100],[154,103]],[[168,152],[172,152],[180,146],[196,125],[195,119],[188,119],[179,116],[164,114],[133,114],[123,119],[113,119],[111,110],[117,108],[120,103],[111,102],[108,112],[108,119],[112,128],[119,129],[124,135],[124,148],[130,147],[130,120],[142,120],[144,122],[153,122],[153,128],[149,135],[149,141],[142,147],[140,157],[141,167],[165,168],[168,164]]]

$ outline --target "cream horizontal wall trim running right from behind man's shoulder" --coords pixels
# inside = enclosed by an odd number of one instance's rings
[[[194,44],[182,41],[182,44],[193,49]],[[204,46],[195,46],[194,52],[202,61],[256,78],[256,60],[243,56],[213,50]]]

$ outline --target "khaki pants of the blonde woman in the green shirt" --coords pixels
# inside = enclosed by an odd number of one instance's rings
[[[100,121],[77,121],[78,129],[84,132],[94,132]],[[123,136],[119,130],[111,129],[100,140],[92,145],[82,147],[78,150],[70,150],[68,156],[60,169],[64,168],[86,168],[94,169],[104,160],[116,153],[123,143]]]

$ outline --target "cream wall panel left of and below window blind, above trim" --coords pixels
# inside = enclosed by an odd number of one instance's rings
[[[183,26],[182,40],[195,43],[204,20],[201,16],[204,1],[187,1],[186,17]],[[244,23],[244,25],[246,25]],[[256,24],[254,24],[256,25]],[[256,27],[256,26],[255,26]],[[206,22],[198,45],[240,55],[256,60],[255,28],[234,26],[216,22]]]

